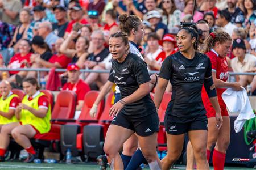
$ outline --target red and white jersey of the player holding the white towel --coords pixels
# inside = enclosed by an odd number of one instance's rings
[[[212,62],[212,71],[216,72],[216,78],[220,79],[224,82],[228,80],[228,62],[226,61],[226,57],[221,57],[218,53],[211,49],[210,52],[206,53]],[[225,88],[216,88],[217,94],[221,95],[226,89]]]

